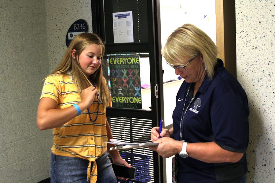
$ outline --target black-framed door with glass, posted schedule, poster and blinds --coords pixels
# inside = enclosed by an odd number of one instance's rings
[[[112,95],[113,137],[149,142],[163,118],[160,5],[156,0],[92,0],[93,32],[105,41],[102,66]],[[137,168],[134,182],[163,182],[163,162],[148,148],[120,151]]]

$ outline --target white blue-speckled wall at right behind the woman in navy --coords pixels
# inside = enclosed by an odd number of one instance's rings
[[[275,1],[236,0],[237,79],[249,100],[248,182],[275,182]]]

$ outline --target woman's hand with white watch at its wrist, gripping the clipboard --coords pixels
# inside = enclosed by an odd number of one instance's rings
[[[176,141],[170,137],[158,138],[153,142],[158,142],[159,145],[151,146],[149,149],[156,151],[163,158],[169,158],[175,154],[180,153],[182,150],[182,142]]]

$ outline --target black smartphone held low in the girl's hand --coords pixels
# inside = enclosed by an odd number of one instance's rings
[[[112,167],[116,177],[122,177],[122,178],[127,178],[132,180],[135,178],[135,174],[136,174],[135,167],[128,168],[124,165],[119,165],[114,163],[112,163]]]

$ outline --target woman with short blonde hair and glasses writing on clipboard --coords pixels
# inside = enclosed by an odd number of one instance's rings
[[[165,158],[175,155],[173,182],[246,182],[248,99],[217,53],[207,34],[191,24],[175,30],[162,50],[184,79],[173,127],[151,133],[160,143],[151,149]]]

